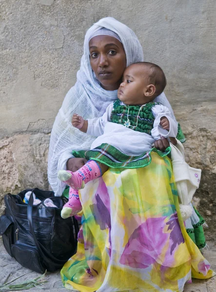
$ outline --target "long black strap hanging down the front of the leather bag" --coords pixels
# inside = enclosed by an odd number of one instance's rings
[[[44,246],[42,246],[36,235],[35,235],[35,231],[34,231],[34,227],[33,227],[33,220],[32,220],[32,210],[33,210],[33,203],[34,203],[34,198],[33,198],[33,191],[29,197],[29,201],[28,201],[28,207],[27,207],[27,217],[28,217],[28,223],[29,223],[29,229],[30,229],[30,233],[33,237],[33,243],[37,246],[38,250],[39,250],[39,254],[40,256],[42,256],[48,263],[53,264],[53,261],[55,261],[56,263],[62,264],[65,263],[65,260],[61,260],[56,258],[55,256],[51,255],[45,248]],[[50,256],[53,260],[50,260],[50,258],[48,258],[44,252],[42,251],[41,247],[45,250],[45,253]]]

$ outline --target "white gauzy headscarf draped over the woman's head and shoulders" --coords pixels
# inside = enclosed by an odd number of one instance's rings
[[[143,61],[143,51],[137,36],[129,27],[115,18],[102,18],[87,31],[84,39],[84,54],[81,58],[80,70],[77,73],[77,82],[64,98],[50,138],[48,180],[56,196],[61,196],[65,188],[65,184],[59,181],[57,173],[60,169],[66,169],[67,160],[73,157],[72,150],[90,149],[95,139],[72,126],[72,115],[77,113],[84,119],[99,117],[105,112],[110,102],[117,99],[117,90],[104,90],[90,65],[89,39],[103,27],[115,32],[120,37],[126,54],[127,66]],[[172,110],[165,94],[162,94],[163,96],[157,97],[157,101]],[[160,99],[163,101],[161,102]]]

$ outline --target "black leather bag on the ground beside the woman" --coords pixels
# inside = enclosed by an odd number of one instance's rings
[[[33,194],[28,204],[25,193],[32,191],[41,200],[33,205]],[[58,208],[46,207],[43,201],[50,198]],[[27,189],[18,195],[4,196],[5,211],[0,217],[0,235],[7,253],[20,265],[43,274],[53,272],[77,251],[78,222],[75,218],[60,216],[65,198],[55,197],[51,191]]]

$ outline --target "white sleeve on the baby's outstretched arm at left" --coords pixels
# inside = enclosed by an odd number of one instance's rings
[[[87,119],[88,121],[88,128],[87,128],[87,134],[91,136],[101,136],[104,132],[104,127],[107,122],[110,122],[110,116],[111,112],[113,110],[113,103],[111,103],[104,114],[99,118],[94,119]]]

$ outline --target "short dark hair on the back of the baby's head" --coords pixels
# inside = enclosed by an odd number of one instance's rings
[[[166,87],[166,77],[163,70],[158,65],[149,62],[137,62],[135,64],[143,65],[148,70],[149,84],[155,85],[155,96],[160,95]]]

